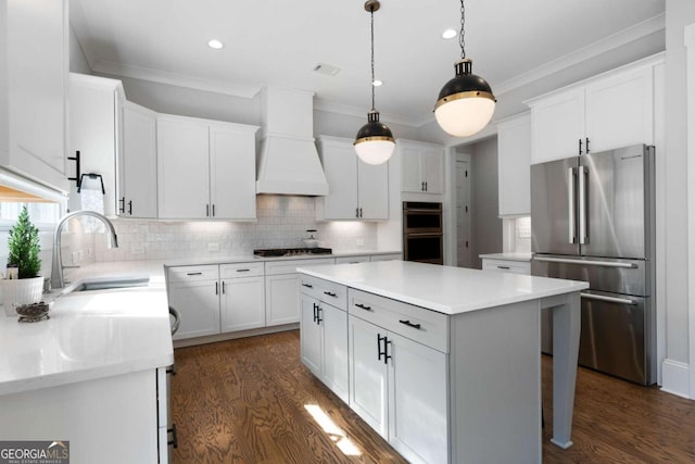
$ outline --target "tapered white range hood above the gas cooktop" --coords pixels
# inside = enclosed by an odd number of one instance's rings
[[[314,145],[314,93],[265,87],[261,93],[261,155],[256,193],[328,195]]]

